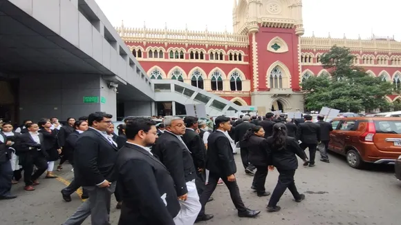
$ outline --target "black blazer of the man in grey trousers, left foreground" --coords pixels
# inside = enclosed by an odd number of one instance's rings
[[[74,176],[81,186],[95,186],[106,179],[114,182],[113,168],[117,146],[110,143],[99,131],[89,128],[75,144]]]

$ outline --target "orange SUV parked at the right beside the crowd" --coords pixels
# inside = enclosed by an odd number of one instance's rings
[[[328,149],[346,155],[348,165],[394,164],[401,155],[400,117],[344,117],[330,121]]]

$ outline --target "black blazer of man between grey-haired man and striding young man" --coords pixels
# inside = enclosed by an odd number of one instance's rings
[[[206,149],[201,136],[192,129],[185,129],[183,141],[192,153],[194,166],[196,168],[205,168]]]

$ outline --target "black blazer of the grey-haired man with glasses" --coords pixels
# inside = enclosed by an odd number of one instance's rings
[[[167,131],[161,135],[152,148],[152,153],[165,164],[176,184],[178,196],[188,193],[187,182],[196,178],[194,160],[185,145]]]

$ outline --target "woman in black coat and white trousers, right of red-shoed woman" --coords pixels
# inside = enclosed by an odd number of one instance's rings
[[[41,148],[46,150],[47,153],[48,168],[46,178],[57,178],[57,176],[53,175],[53,169],[55,168],[55,161],[59,159],[59,154],[62,153],[57,138],[57,131],[50,129],[52,124],[49,119],[41,119],[37,125],[40,128],[39,133],[43,135],[44,143],[41,143]]]

